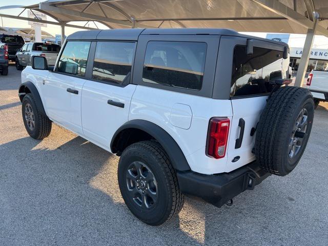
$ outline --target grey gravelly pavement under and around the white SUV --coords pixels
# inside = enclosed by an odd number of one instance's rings
[[[0,76],[0,245],[328,245],[328,103],[315,112],[298,167],[215,208],[186,199],[160,227],[138,221],[119,193],[118,158],[53,125],[25,131],[20,72]]]

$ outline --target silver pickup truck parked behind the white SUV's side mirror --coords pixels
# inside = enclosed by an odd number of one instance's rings
[[[24,67],[31,65],[32,56],[44,56],[49,66],[54,66],[60,46],[49,43],[26,43],[22,49],[16,52],[16,69],[23,70]]]

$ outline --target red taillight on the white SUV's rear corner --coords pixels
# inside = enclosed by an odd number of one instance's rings
[[[210,119],[207,136],[207,155],[216,159],[226,155],[230,120],[214,117]]]

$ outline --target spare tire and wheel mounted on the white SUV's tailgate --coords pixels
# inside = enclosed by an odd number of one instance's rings
[[[310,137],[314,116],[311,92],[281,87],[268,99],[255,138],[255,155],[261,168],[285,176],[296,167]]]

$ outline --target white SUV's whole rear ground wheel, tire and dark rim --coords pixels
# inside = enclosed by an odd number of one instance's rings
[[[156,141],[137,142],[124,150],[118,184],[130,211],[151,226],[171,219],[183,206],[176,172]]]

